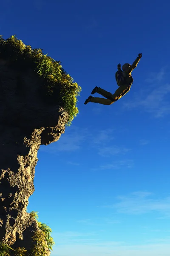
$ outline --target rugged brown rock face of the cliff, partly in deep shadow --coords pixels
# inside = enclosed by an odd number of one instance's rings
[[[68,113],[41,97],[43,79],[0,60],[0,241],[31,249],[37,222],[26,212],[40,145],[59,140]],[[49,252],[47,252],[49,254]]]

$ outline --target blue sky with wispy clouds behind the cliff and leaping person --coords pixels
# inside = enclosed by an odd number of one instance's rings
[[[1,3],[0,34],[62,61],[81,87],[79,115],[41,146],[35,192],[53,256],[168,256],[170,71],[168,1],[30,0]],[[84,105],[117,89],[117,64],[142,59],[111,106]]]

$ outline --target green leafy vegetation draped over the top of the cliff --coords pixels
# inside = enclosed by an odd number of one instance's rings
[[[18,40],[15,35],[3,39],[0,35],[0,58],[6,59],[18,70],[34,70],[43,79],[43,96],[48,102],[57,103],[69,114],[67,125],[77,116],[77,96],[81,87],[62,68],[60,61],[42,53],[42,49],[32,49]]]

